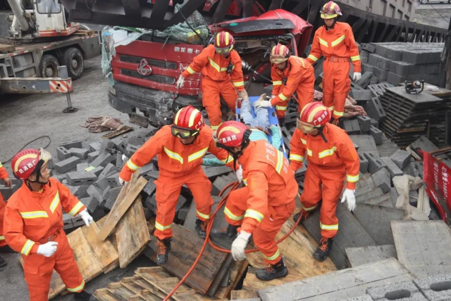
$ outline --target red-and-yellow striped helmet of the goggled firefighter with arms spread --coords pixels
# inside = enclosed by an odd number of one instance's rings
[[[189,138],[197,134],[205,125],[205,120],[198,109],[188,105],[178,110],[172,124],[172,134],[180,138]]]

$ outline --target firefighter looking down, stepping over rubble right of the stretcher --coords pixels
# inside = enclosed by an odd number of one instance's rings
[[[338,231],[335,215],[337,203],[346,180],[346,189],[341,202],[348,209],[355,209],[355,185],[359,180],[360,161],[348,134],[330,124],[331,112],[321,102],[312,102],[304,107],[297,120],[297,129],[290,143],[290,168],[297,171],[308,156],[309,165],[301,195],[302,210],[294,216],[295,221],[304,221],[321,205],[321,244],[313,257],[323,261],[332,248],[332,240]]]

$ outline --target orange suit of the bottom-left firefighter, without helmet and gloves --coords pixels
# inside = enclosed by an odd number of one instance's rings
[[[75,216],[86,207],[53,178],[43,185],[42,192],[32,192],[24,183],[8,200],[5,238],[13,250],[22,253],[31,301],[48,300],[53,269],[69,291],[80,292],[85,287],[63,230],[63,208]],[[37,254],[39,245],[49,241],[58,242],[56,253],[52,257]]]

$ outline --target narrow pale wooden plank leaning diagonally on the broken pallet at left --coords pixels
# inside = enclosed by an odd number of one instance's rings
[[[136,174],[136,173],[135,173]],[[139,195],[141,190],[146,185],[147,180],[144,178],[139,178],[136,184],[131,187],[131,189],[126,193],[125,197],[122,199],[123,191],[127,191],[127,187],[123,187],[121,189],[121,192],[119,193],[116,202],[114,205],[118,204],[117,206],[113,206],[110,213],[108,214],[108,218],[105,221],[105,224],[103,225],[102,229],[100,230],[98,236],[101,240],[105,240],[108,235],[111,234],[114,227],[117,225],[121,217],[125,214],[127,209],[132,205],[133,201],[136,199],[136,197]],[[129,183],[129,185],[132,185]],[[127,185],[127,186],[129,186]],[[120,202],[120,203],[119,203]]]

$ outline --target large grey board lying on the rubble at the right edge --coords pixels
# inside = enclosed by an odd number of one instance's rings
[[[451,272],[451,230],[443,221],[391,221],[399,261],[417,278]]]

